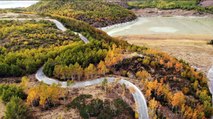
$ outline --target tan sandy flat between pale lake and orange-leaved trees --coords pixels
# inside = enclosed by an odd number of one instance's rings
[[[171,35],[144,35],[122,36],[120,38],[131,44],[167,52],[207,73],[213,65],[213,46],[207,44],[211,38],[210,36],[201,37],[182,36],[181,38],[181,36],[172,37]]]

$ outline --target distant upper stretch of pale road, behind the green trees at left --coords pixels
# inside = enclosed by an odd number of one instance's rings
[[[26,20],[36,20],[36,21],[41,21],[41,20],[46,20],[46,21],[50,21],[50,22],[53,22],[56,27],[65,32],[67,31],[67,28],[61,23],[59,22],[58,20],[56,19],[48,19],[48,18],[1,18],[0,20],[18,20],[18,21],[26,21]],[[89,43],[89,40],[83,36],[81,33],[77,33],[77,32],[74,32],[76,35],[78,35],[80,37],[80,39],[84,42],[84,43]]]

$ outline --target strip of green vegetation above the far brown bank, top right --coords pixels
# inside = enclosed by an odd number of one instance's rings
[[[202,7],[200,0],[136,0],[128,2],[130,8],[184,9],[213,13],[213,7]]]

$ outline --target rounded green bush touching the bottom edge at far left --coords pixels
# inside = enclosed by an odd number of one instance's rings
[[[19,97],[12,97],[6,105],[5,119],[29,119],[29,109]]]

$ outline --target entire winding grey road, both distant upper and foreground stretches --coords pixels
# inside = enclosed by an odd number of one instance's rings
[[[61,22],[59,22],[58,20],[55,20],[55,19],[48,19],[48,18],[0,18],[0,20],[19,20],[19,21],[47,20],[47,21],[53,22],[59,30],[61,30],[63,32],[65,32],[67,30],[67,28]],[[84,43],[86,43],[86,44],[89,43],[89,40],[85,36],[83,36],[82,34],[77,33],[77,32],[74,32],[74,33],[76,35],[78,35]],[[64,87],[64,88],[65,87],[81,88],[81,87],[86,87],[86,86],[91,86],[91,85],[97,85],[97,84],[102,83],[104,79],[107,79],[108,82],[115,82],[116,81],[115,77],[103,77],[103,78],[98,78],[98,79],[94,79],[94,80],[90,80],[90,81],[76,82],[76,83],[72,84],[71,86],[69,86],[66,81],[59,81],[59,80],[47,77],[43,73],[43,68],[40,68],[37,71],[35,77],[36,77],[37,80],[44,82],[45,84],[48,84],[48,85],[59,84],[59,85],[61,85],[61,87]],[[139,113],[139,119],[149,119],[146,99],[145,99],[144,95],[142,94],[142,92],[140,91],[140,89],[137,86],[135,86],[133,83],[125,80],[124,78],[119,80],[118,83],[125,84],[127,87],[133,87],[135,89],[135,92],[133,92],[132,95],[133,95],[135,102],[137,102],[137,107],[138,107],[137,111]]]

